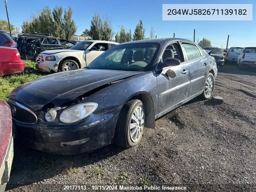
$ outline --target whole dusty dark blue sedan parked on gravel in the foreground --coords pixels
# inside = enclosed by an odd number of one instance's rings
[[[196,96],[210,98],[216,75],[215,59],[194,42],[132,41],[110,48],[86,69],[14,89],[8,104],[17,138],[31,148],[58,154],[113,142],[130,148],[156,118]]]

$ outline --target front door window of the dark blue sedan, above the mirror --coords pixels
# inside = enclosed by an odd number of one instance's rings
[[[182,51],[178,43],[175,42],[166,47],[162,56],[162,61],[164,62],[166,58],[176,58],[180,60],[180,62],[184,62]]]

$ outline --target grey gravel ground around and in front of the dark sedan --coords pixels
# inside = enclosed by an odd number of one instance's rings
[[[58,156],[16,144],[6,190],[65,191],[64,185],[112,184],[256,191],[256,72],[219,68],[214,96],[223,102],[195,98],[159,118],[142,142],[128,150],[110,145]]]

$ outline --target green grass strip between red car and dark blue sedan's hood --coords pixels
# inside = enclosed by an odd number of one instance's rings
[[[4,77],[0,77],[0,99],[7,101],[7,97],[14,90],[14,88],[41,76],[47,75],[47,73],[36,70],[36,63],[30,60],[26,60],[26,67],[24,72],[20,74],[12,74]]]

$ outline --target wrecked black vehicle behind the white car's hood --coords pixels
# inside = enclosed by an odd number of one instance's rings
[[[23,34],[17,39],[17,48],[22,59],[37,61],[40,52],[54,49],[69,49],[75,43],[44,33]]]

